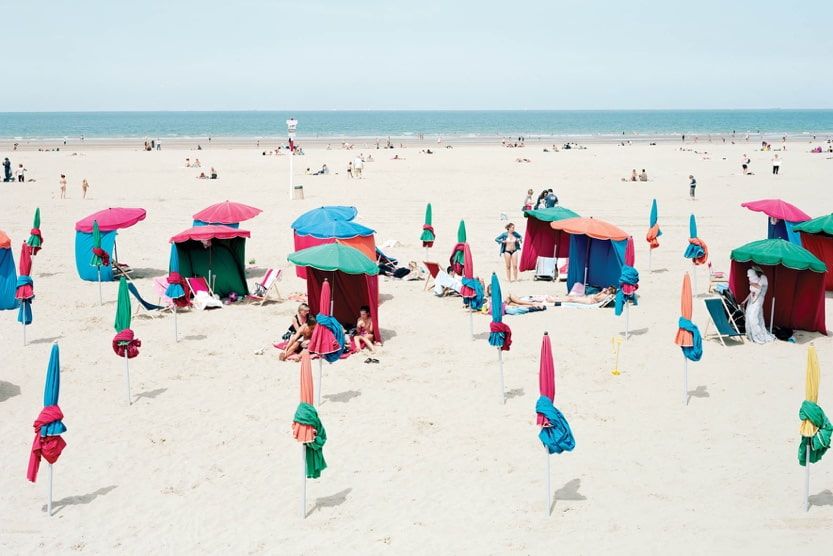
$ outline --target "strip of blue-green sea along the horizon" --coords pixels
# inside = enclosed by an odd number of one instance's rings
[[[833,110],[0,112],[0,139],[672,137],[833,134]]]

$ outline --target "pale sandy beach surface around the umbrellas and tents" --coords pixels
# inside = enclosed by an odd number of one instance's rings
[[[759,145],[759,144],[758,144]],[[780,145],[779,145],[780,146]],[[23,163],[25,184],[0,183],[0,229],[15,259],[40,207],[44,249],[33,263],[34,323],[22,347],[13,311],[0,314],[0,548],[6,554],[225,553],[316,554],[784,554],[822,552],[833,535],[833,455],[812,467],[811,508],[803,508],[804,468],[797,462],[798,409],[804,399],[809,342],[822,364],[819,403],[833,413],[833,345],[800,332],[798,343],[730,345],[707,341],[689,365],[683,404],[680,349],[673,344],[688,216],[717,270],[729,252],[766,234],[766,217],[739,205],[780,197],[820,216],[833,210],[833,160],[806,142],[780,153],[749,144],[679,144],[544,153],[465,145],[353,151],[323,145],[296,157],[306,199],[287,199],[288,157],[255,148],[205,146],[8,152]],[[708,156],[695,153],[708,151]],[[348,160],[372,154],[365,179],[350,180]],[[748,153],[755,175],[743,176]],[[391,160],[399,154],[404,160]],[[5,156],[5,155],[4,155]],[[185,157],[214,166],[220,179],[198,180]],[[518,157],[529,164],[515,162]],[[327,176],[304,169],[326,163]],[[648,183],[620,178],[647,169]],[[69,199],[58,197],[66,173]],[[696,202],[688,175],[697,177]],[[80,183],[91,189],[81,199]],[[475,317],[476,339],[459,299],[423,292],[422,282],[380,279],[385,344],[378,365],[351,357],[324,369],[320,415],[329,467],[307,482],[301,519],[299,447],[291,435],[298,403],[297,363],[281,363],[272,342],[297,303],[238,304],[136,319],[141,355],[131,361],[135,402],[124,395],[122,362],[113,354],[116,283],[96,285],[75,270],[74,223],[114,206],[147,209],[147,219],[119,234],[119,257],[136,269],[139,289],[155,300],[151,279],[167,271],[168,239],[191,215],[231,199],[263,209],[244,223],[249,282],[265,268],[289,268],[289,223],[320,205],[348,204],[377,230],[377,244],[402,262],[421,261],[426,202],[447,261],[458,221],[468,227],[476,274],[499,271],[504,292],[564,293],[563,283],[525,273],[508,284],[493,239],[508,220],[523,232],[528,188],[552,187],[561,204],[612,222],[636,240],[641,271],[633,335],[614,376],[612,338],[624,319],[612,310],[569,310],[507,317],[514,342],[505,354],[500,403],[489,319]],[[651,199],[664,235],[647,272]],[[708,320],[700,269],[694,321]],[[286,296],[305,291],[287,270]],[[831,325],[830,294],[826,299]],[[556,406],[577,446],[551,458],[554,505],[547,515],[545,455],[537,439],[538,355],[549,331],[556,360]],[[54,515],[46,515],[46,473],[26,481],[31,424],[42,407],[50,346],[60,342],[60,405],[68,446],[55,465]],[[265,351],[257,354],[261,349]]]

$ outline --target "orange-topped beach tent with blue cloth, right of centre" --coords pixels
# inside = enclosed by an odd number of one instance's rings
[[[595,218],[567,218],[551,222],[550,226],[570,234],[567,291],[577,282],[598,288],[619,285],[627,233]]]

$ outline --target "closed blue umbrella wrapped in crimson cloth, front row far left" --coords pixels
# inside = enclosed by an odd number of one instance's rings
[[[43,410],[35,420],[35,439],[29,454],[29,467],[26,478],[35,482],[38,478],[41,458],[49,463],[49,494],[47,498],[47,514],[52,515],[52,464],[58,461],[66,447],[61,435],[67,428],[62,419],[64,414],[58,406],[61,391],[61,362],[58,344],[52,344],[49,355],[49,366],[46,368],[46,381],[43,389]]]

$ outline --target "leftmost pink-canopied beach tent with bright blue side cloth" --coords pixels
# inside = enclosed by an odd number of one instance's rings
[[[101,248],[118,262],[116,250],[117,230],[129,228],[145,219],[147,212],[141,208],[109,208],[98,211],[75,223],[75,268],[78,276],[88,282],[98,282],[98,269],[90,265],[93,250],[93,222],[101,231]],[[101,267],[101,280],[113,279],[113,266]]]

